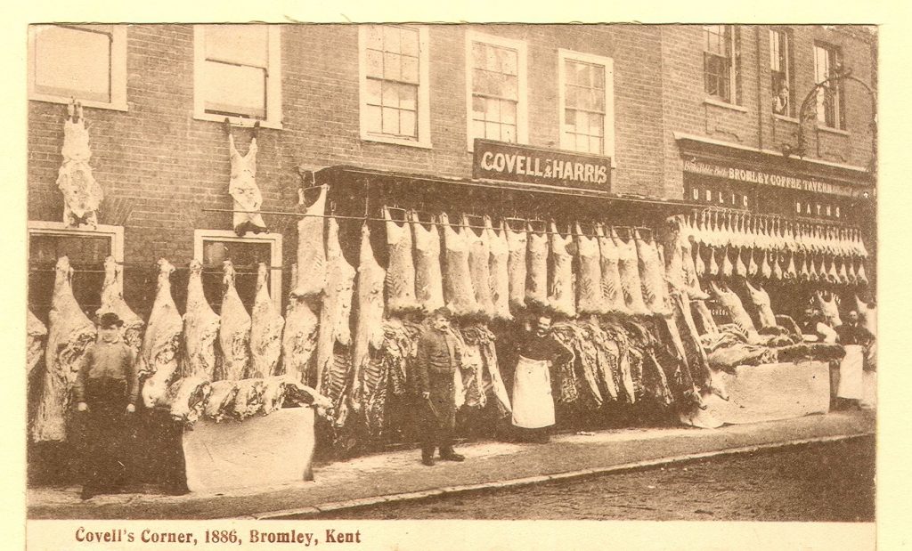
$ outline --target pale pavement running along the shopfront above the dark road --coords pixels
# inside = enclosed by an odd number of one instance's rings
[[[833,411],[719,429],[625,429],[562,434],[547,444],[473,442],[464,463],[420,463],[418,450],[385,452],[316,465],[311,482],[218,494],[99,495],[83,502],[78,486],[27,490],[31,519],[266,519],[307,517],[370,504],[542,483],[873,434],[874,411]]]

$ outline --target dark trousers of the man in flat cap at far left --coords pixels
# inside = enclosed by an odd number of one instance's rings
[[[114,492],[130,482],[131,436],[135,429],[127,413],[127,381],[88,379],[88,411],[77,413],[83,422],[84,482],[91,493]]]

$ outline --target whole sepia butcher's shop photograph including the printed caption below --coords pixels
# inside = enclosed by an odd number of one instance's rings
[[[878,35],[27,26],[27,519],[873,525]]]

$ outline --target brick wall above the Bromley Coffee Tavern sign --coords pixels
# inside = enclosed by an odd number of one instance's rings
[[[768,29],[768,26],[740,27],[742,110],[736,110],[705,101],[702,28],[662,27],[664,172],[665,192],[669,197],[680,197],[683,192],[683,165],[673,137],[675,131],[772,151],[781,151],[783,143],[797,144],[797,121],[772,115]],[[791,27],[796,115],[803,98],[814,87],[815,41],[840,47],[844,64],[853,69],[855,77],[874,83],[875,48],[870,42],[852,36],[851,30]],[[814,130],[813,123],[804,125],[809,146],[806,158],[866,167],[871,160],[871,98],[860,85],[847,82],[844,105],[847,132]]]

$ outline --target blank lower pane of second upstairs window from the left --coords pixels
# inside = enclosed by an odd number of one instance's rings
[[[208,112],[265,118],[265,69],[207,61],[202,73],[202,89]]]

